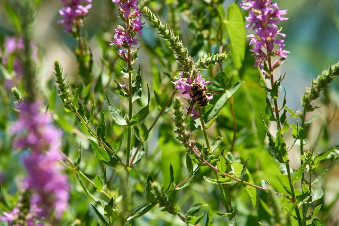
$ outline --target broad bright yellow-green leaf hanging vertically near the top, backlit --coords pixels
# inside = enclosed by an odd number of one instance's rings
[[[227,7],[226,28],[230,37],[231,56],[239,70],[245,58],[245,25],[243,15],[236,3]]]

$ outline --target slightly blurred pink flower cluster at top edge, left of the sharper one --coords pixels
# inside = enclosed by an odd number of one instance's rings
[[[83,1],[91,3],[92,0],[61,0],[65,5],[62,9],[59,10],[63,19],[59,21],[59,24],[65,25],[65,31],[73,33],[72,25],[83,23],[82,18],[88,13],[88,9],[92,8],[92,4],[87,4],[86,6],[81,5]]]

